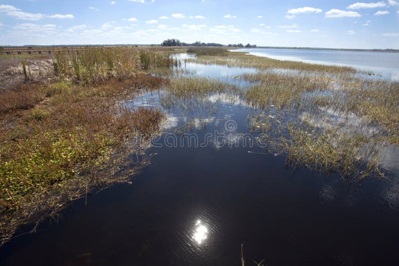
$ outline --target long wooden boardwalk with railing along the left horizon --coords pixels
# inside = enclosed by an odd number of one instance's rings
[[[77,52],[89,48],[110,48],[110,46],[34,46],[34,47],[0,47],[0,54],[41,54],[53,52]]]

